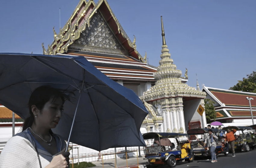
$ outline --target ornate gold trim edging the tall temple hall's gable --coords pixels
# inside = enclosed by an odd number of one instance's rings
[[[55,30],[53,28],[54,42],[51,45],[48,45],[47,51],[46,52],[43,51],[43,53],[47,54],[47,55],[56,55],[57,53],[67,52],[68,47],[71,44],[73,44],[73,42],[80,37],[80,34],[86,29],[86,26],[89,26],[90,19],[92,18],[94,13],[97,12],[98,8],[100,7],[100,5],[103,2],[105,2],[111,16],[113,17],[114,21],[117,24],[118,33],[121,33],[122,36],[127,39],[127,42],[129,44],[129,46],[131,48],[133,48],[134,51],[136,52],[136,54],[139,56],[139,60],[140,61],[143,60],[142,62],[146,62],[146,60],[144,60],[142,58],[142,56],[139,54],[139,52],[136,50],[136,45],[134,45],[135,43],[133,44],[132,41],[130,40],[130,38],[128,37],[128,35],[124,32],[122,26],[120,25],[119,21],[117,20],[116,16],[114,15],[113,11],[111,10],[111,8],[110,8],[110,6],[109,6],[109,4],[106,0],[99,0],[97,4],[95,4],[94,1],[86,2],[86,0],[80,0],[78,5],[76,6],[74,12],[70,16],[70,19],[68,19],[67,23],[60,30],[58,35],[57,35],[57,33],[55,32]],[[79,9],[81,8],[83,3],[86,4],[85,7],[83,8],[83,10],[80,12],[79,16],[77,17],[78,19],[76,19],[75,22],[72,24],[71,21],[73,20],[74,16],[77,14],[77,12],[79,11]],[[86,12],[89,9],[89,6],[91,4],[94,5],[91,13],[89,14],[89,16],[87,16],[85,22],[83,22],[83,24],[81,26],[79,26],[80,20],[83,18],[83,16],[85,16],[85,14],[86,14]],[[93,49],[85,49],[85,50],[95,52],[95,50],[93,50]],[[108,53],[108,51],[105,52],[105,53]],[[120,54],[120,53],[118,53],[118,54]]]

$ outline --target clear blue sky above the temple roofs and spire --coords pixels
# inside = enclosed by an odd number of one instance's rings
[[[97,2],[96,0],[95,2]],[[42,54],[79,0],[12,0],[0,5],[0,52]],[[255,0],[108,0],[137,50],[158,66],[161,18],[177,69],[188,69],[188,85],[228,89],[256,71]]]

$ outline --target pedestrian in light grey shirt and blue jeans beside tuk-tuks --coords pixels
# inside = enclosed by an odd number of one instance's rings
[[[211,152],[211,163],[217,162],[215,149],[216,149],[216,142],[215,140],[218,138],[216,135],[212,133],[212,129],[208,130],[208,136],[205,138],[204,146],[207,145],[210,148]]]

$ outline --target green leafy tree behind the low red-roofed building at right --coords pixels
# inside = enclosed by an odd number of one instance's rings
[[[243,78],[243,81],[239,80],[238,83],[230,87],[229,90],[256,93],[256,72],[253,71],[250,75],[246,76],[247,78]]]

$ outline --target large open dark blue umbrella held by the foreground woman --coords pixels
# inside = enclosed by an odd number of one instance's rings
[[[0,53],[0,81],[0,103],[22,119],[29,116],[27,104],[35,88],[75,89],[52,130],[67,145],[97,151],[145,146],[139,129],[148,111],[142,101],[82,56]]]

